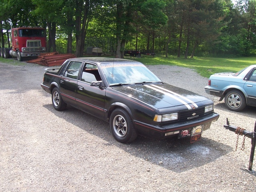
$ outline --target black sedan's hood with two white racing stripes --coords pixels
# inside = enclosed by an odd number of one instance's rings
[[[126,85],[113,88],[156,108],[185,105],[190,109],[197,107],[199,102],[209,100],[204,96],[170,84]]]

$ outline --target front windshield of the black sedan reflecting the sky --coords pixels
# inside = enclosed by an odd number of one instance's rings
[[[108,84],[161,82],[161,80],[141,63],[102,63],[102,72]]]

